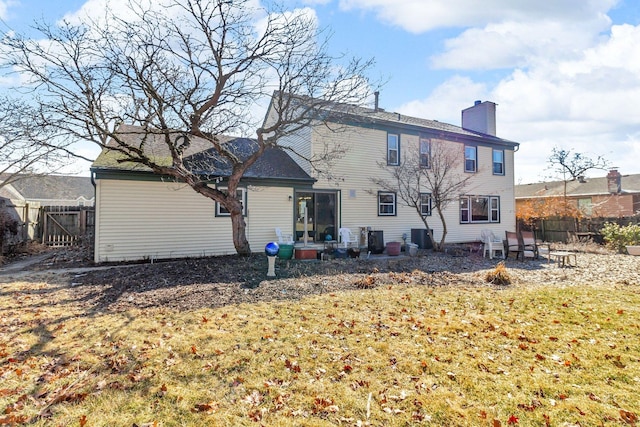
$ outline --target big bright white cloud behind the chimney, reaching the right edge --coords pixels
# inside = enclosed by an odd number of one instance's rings
[[[474,99],[498,104],[498,136],[519,142],[516,182],[550,178],[554,147],[603,156],[624,173],[637,173],[640,158],[640,26],[614,25],[591,46],[547,58],[532,53],[495,84],[456,75],[401,112],[460,123]],[[591,171],[590,176],[602,176]]]

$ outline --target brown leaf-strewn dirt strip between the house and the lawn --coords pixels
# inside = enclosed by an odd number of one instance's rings
[[[505,265],[512,286],[584,285],[595,280],[613,285],[640,283],[640,257],[579,253],[577,260],[578,267],[573,268],[559,268],[546,259],[524,262],[509,259]],[[297,300],[308,295],[379,286],[496,286],[488,284],[486,276],[499,261],[476,253],[461,256],[432,252],[418,257],[277,260],[277,277],[267,278],[264,255],[98,267],[81,251],[64,249],[31,265],[13,280],[56,283],[61,292],[89,311],[148,307],[189,310]],[[2,281],[7,280],[12,277],[5,274]]]

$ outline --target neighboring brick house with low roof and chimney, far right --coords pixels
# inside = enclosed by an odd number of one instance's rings
[[[590,217],[620,218],[640,213],[640,174],[621,175],[611,169],[606,177],[579,178],[516,185],[516,207],[530,201],[564,199]]]

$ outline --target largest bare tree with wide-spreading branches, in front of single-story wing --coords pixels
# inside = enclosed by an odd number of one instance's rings
[[[224,206],[236,251],[247,255],[236,196],[243,174],[281,138],[322,122],[320,111],[335,103],[362,104],[372,65],[330,55],[327,33],[304,10],[253,4],[132,0],[128,10],[106,10],[99,20],[36,24],[46,42],[5,36],[5,64],[29,77],[32,96],[59,132],[108,147],[119,162],[185,182]],[[272,114],[257,121],[250,112],[269,97]],[[119,134],[121,123],[140,126],[141,135]],[[223,135],[253,135],[257,142],[240,156]],[[230,165],[225,190],[209,185],[215,170],[203,175],[185,163],[193,137]],[[167,156],[154,156],[151,138],[162,140]],[[307,160],[330,163],[332,154],[327,149]]]

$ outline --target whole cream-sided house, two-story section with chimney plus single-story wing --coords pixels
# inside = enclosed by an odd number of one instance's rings
[[[329,235],[336,238],[341,227],[353,230],[361,244],[369,230],[390,242],[423,229],[415,209],[403,206],[394,192],[376,189],[371,178],[388,173],[378,166],[381,159],[393,167],[412,146],[427,159],[433,141],[458,150],[460,172],[472,176],[458,203],[445,212],[447,241],[477,241],[486,228],[497,235],[515,230],[513,160],[518,143],[496,136],[494,103],[478,101],[464,110],[462,126],[386,112],[377,104],[376,99],[374,108],[344,108],[337,119],[340,132],[320,123],[304,127],[280,141],[293,150],[271,149],[252,166],[242,180],[241,196],[254,251],[276,238],[275,228],[293,235],[298,245],[305,231],[309,244],[322,245]],[[272,104],[265,120],[273,114]],[[331,114],[326,117],[332,120]],[[330,175],[317,174],[305,158],[322,154],[330,143],[339,143],[345,152],[332,162]],[[185,156],[195,159],[206,148],[195,140]],[[108,149],[91,170],[96,262],[235,253],[228,214],[187,185],[113,161]],[[224,187],[224,168],[202,173],[209,185]],[[439,239],[442,224],[432,215],[427,193],[424,200],[423,214]]]

